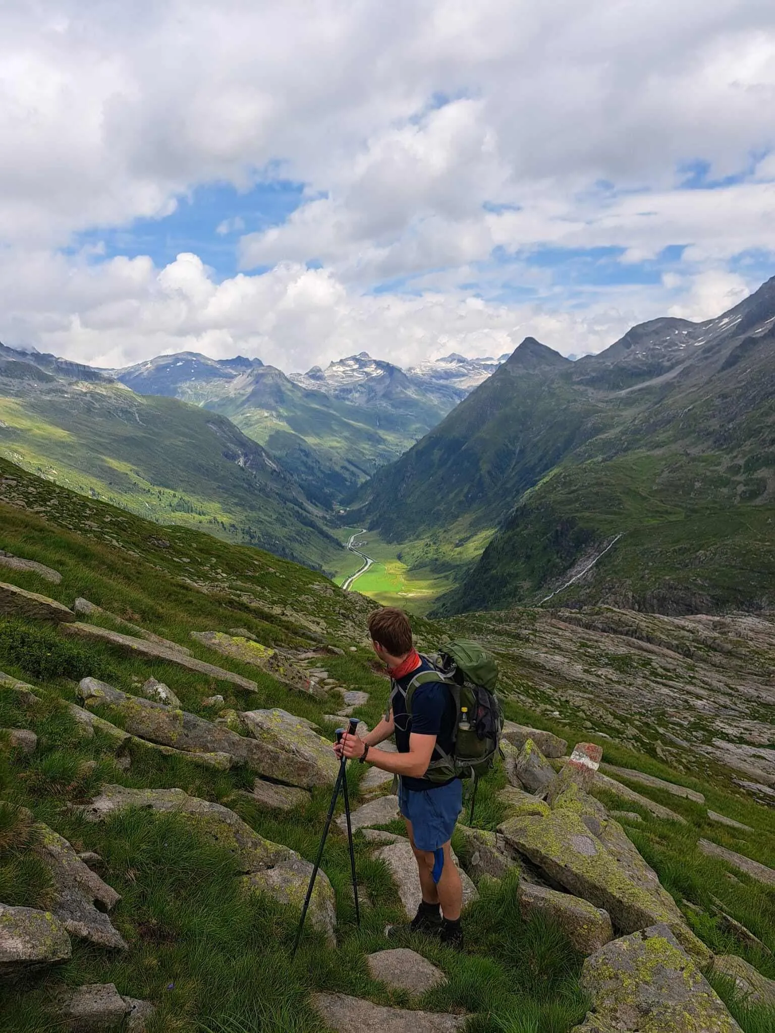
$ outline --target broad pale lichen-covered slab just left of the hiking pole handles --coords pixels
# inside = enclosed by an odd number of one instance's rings
[[[296,764],[309,773],[306,782],[283,778],[280,775],[273,776],[271,772],[258,774],[266,774],[283,782],[292,782],[293,785],[303,785],[305,788],[332,784],[336,781],[339,760],[334,753],[332,743],[314,732],[306,722],[279,709],[246,711],[240,714],[240,720],[250,732],[252,740],[260,745],[261,750],[274,750],[286,758],[288,765]]]

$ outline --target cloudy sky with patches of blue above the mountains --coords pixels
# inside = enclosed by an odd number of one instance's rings
[[[6,0],[0,340],[596,352],[775,275],[772,0]]]

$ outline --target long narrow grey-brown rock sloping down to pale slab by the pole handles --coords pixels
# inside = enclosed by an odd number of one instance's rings
[[[79,695],[89,710],[99,708],[106,716],[120,718],[126,729],[125,733],[130,732],[150,743],[158,743],[192,755],[229,754],[238,762],[247,764],[256,775],[304,788],[328,781],[328,769],[322,769],[309,756],[295,752],[282,743],[258,743],[255,739],[240,735],[224,725],[206,721],[187,711],[165,707],[141,696],[127,695],[96,679],[85,678],[79,685]],[[338,769],[338,761],[330,747],[329,750]]]

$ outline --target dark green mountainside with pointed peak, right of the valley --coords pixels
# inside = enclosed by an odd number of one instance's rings
[[[456,569],[439,613],[558,590],[676,614],[775,606],[774,392],[775,278],[716,319],[652,320],[577,362],[526,338],[377,472],[353,519]],[[489,543],[461,570],[471,539]]]

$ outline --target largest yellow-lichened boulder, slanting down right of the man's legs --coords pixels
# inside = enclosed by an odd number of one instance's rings
[[[535,865],[553,885],[608,911],[617,930],[632,933],[664,922],[705,964],[710,951],[685,925],[656,874],[640,854],[636,864],[630,850],[623,847],[619,833],[624,839],[626,836],[621,825],[618,832],[614,828],[609,833],[609,845],[615,852],[598,838],[609,825],[618,823],[568,807],[545,816],[510,818],[499,832],[508,846]],[[631,844],[630,848],[637,853]]]

